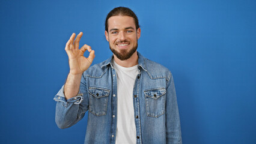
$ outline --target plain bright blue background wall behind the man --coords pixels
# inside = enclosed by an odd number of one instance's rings
[[[0,143],[84,143],[87,116],[55,124],[53,97],[69,73],[72,32],[112,55],[106,14],[130,7],[139,18],[138,51],[172,71],[183,143],[256,143],[256,1],[0,2]],[[88,56],[88,53],[85,54]]]

